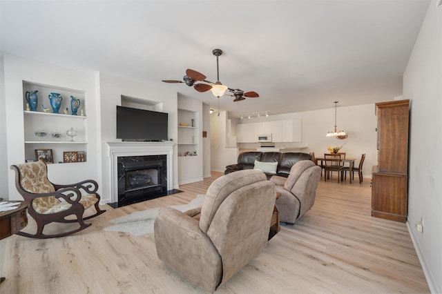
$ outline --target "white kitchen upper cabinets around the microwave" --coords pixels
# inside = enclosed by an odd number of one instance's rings
[[[284,119],[236,125],[238,143],[256,143],[258,135],[271,134],[273,142],[300,142],[301,120]]]

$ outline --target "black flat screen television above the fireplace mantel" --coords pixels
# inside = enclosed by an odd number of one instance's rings
[[[168,114],[117,106],[117,139],[123,141],[167,140]]]

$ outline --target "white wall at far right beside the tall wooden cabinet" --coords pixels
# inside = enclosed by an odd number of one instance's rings
[[[442,6],[433,0],[403,79],[410,106],[407,226],[432,293],[442,293]],[[415,223],[423,219],[423,233]]]

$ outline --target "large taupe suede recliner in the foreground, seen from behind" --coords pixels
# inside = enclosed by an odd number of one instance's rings
[[[162,208],[155,218],[158,257],[204,291],[215,291],[267,244],[275,185],[260,170],[216,179],[201,208]]]

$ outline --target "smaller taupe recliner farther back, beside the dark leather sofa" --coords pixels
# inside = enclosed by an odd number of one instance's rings
[[[294,224],[313,206],[321,170],[313,161],[302,160],[291,167],[289,177],[271,177],[270,182],[281,193],[276,199],[280,222]]]

